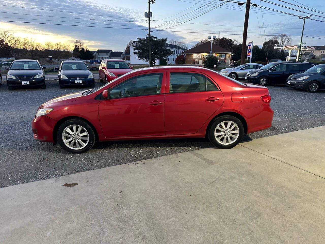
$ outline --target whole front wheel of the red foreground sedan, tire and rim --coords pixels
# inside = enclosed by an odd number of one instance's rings
[[[84,153],[95,144],[95,132],[81,119],[69,119],[60,125],[57,133],[60,146],[69,153]]]

